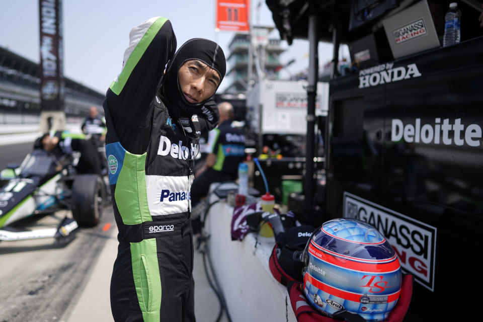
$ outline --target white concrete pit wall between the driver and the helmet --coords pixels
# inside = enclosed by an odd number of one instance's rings
[[[254,233],[232,241],[232,214],[233,207],[222,201],[211,207],[205,221],[210,258],[232,321],[296,322],[287,289],[268,266],[275,239],[259,236],[256,249]]]

